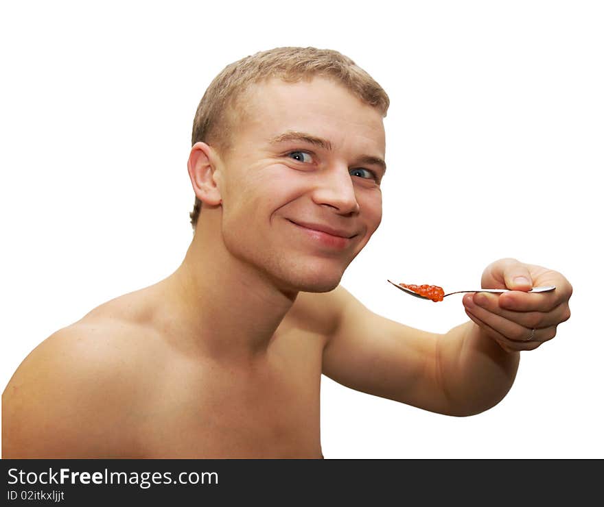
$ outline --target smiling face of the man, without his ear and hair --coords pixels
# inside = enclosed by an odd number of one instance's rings
[[[382,220],[382,116],[323,78],[249,98],[219,176],[224,245],[284,290],[332,290]]]

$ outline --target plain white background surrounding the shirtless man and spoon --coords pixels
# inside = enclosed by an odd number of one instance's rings
[[[191,123],[211,79],[257,51],[314,46],[391,97],[384,219],[343,286],[441,333],[467,321],[461,295],[432,304],[386,278],[477,288],[510,256],[574,288],[571,319],[522,352],[510,393],[483,414],[323,377],[325,457],[604,457],[600,2],[90,4],[0,12],[2,388],[49,334],[180,264]]]

